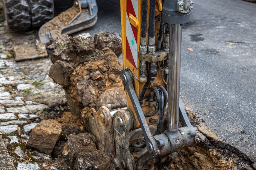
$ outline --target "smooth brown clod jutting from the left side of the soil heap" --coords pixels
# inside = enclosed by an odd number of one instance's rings
[[[61,86],[67,87],[70,84],[70,75],[74,70],[71,64],[58,60],[51,65],[49,77]]]

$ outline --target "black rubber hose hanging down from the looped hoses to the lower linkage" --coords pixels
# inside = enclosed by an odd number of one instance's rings
[[[159,90],[160,94],[160,110],[158,112],[158,123],[157,123],[157,130],[155,131],[155,135],[161,134],[163,130],[163,121],[164,121],[164,105],[165,105],[165,100],[163,96],[163,91]]]

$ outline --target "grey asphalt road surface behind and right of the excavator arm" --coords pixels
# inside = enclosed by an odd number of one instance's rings
[[[203,126],[256,162],[256,3],[193,2],[182,32],[181,99]],[[97,3],[98,22],[85,32],[121,34],[119,1]]]

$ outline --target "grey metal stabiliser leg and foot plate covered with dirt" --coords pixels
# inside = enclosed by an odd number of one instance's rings
[[[46,57],[45,44],[61,34],[72,33],[90,28],[97,22],[98,7],[96,0],[76,0],[74,6],[62,12],[38,31],[39,40],[35,44],[15,46],[16,61]]]

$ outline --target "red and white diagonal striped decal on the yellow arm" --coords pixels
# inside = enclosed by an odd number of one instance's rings
[[[138,0],[126,1],[126,58],[134,67],[137,66],[138,53],[138,29],[129,22],[129,13],[134,17],[138,17]]]

